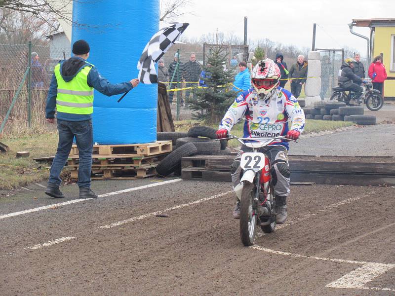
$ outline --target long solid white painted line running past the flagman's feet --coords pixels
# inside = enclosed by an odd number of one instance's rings
[[[120,194],[120,193],[130,192],[130,191],[134,191],[134,190],[140,190],[140,189],[145,189],[145,188],[149,188],[149,187],[166,185],[166,184],[169,184],[169,183],[174,183],[174,182],[179,182],[179,181],[182,181],[182,179],[174,179],[174,180],[164,181],[164,182],[161,182],[161,183],[155,183],[155,184],[150,184],[150,185],[144,185],[144,186],[139,186],[139,187],[128,188],[128,189],[124,189],[124,190],[119,190],[119,191],[114,191],[114,192],[110,192],[110,193],[100,194],[98,196],[99,197],[106,197],[106,196],[110,196],[110,195],[116,195],[116,194]],[[70,201],[65,201],[65,202],[52,204],[52,205],[48,205],[48,206],[43,206],[43,207],[39,207],[39,208],[34,208],[34,209],[30,209],[30,210],[4,214],[4,215],[0,215],[0,220],[1,219],[5,219],[5,218],[9,218],[9,217],[23,215],[23,214],[29,214],[29,213],[33,213],[33,212],[38,212],[38,211],[42,211],[42,210],[53,209],[53,208],[56,208],[56,207],[65,206],[65,205],[69,205],[69,204],[74,204],[76,202],[86,201],[86,200],[90,200],[90,199],[92,199],[92,198],[73,199],[73,200],[70,200]]]

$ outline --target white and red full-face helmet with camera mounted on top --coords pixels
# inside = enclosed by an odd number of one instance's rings
[[[259,61],[252,69],[252,84],[261,98],[273,94],[280,84],[281,72],[271,59]]]

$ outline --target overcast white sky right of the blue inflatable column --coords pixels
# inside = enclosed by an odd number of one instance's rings
[[[244,16],[247,38],[269,38],[299,48],[312,46],[317,23],[316,48],[349,46],[366,55],[366,40],[350,33],[353,19],[395,18],[394,0],[192,0],[190,11],[177,21],[190,23],[185,37],[233,31],[243,39]],[[370,29],[354,27],[366,37]]]

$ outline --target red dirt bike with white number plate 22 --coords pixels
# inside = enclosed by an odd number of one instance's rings
[[[253,152],[241,154],[240,167],[243,171],[240,183],[234,191],[240,200],[240,238],[244,246],[251,246],[255,240],[257,226],[270,233],[276,228],[276,197],[272,184],[269,158],[260,148],[280,142],[285,136],[275,138],[238,138],[229,135],[226,139],[236,139]],[[294,141],[287,139],[287,141]],[[296,142],[296,141],[294,141]]]

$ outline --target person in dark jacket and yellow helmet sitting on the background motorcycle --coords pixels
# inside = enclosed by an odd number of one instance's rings
[[[356,61],[352,58],[346,58],[344,64],[340,67],[341,73],[339,75],[339,86],[345,90],[352,92],[350,105],[358,106],[360,101],[358,100],[363,92],[363,87],[360,86],[363,81],[361,77],[358,77],[353,72],[354,63]]]

